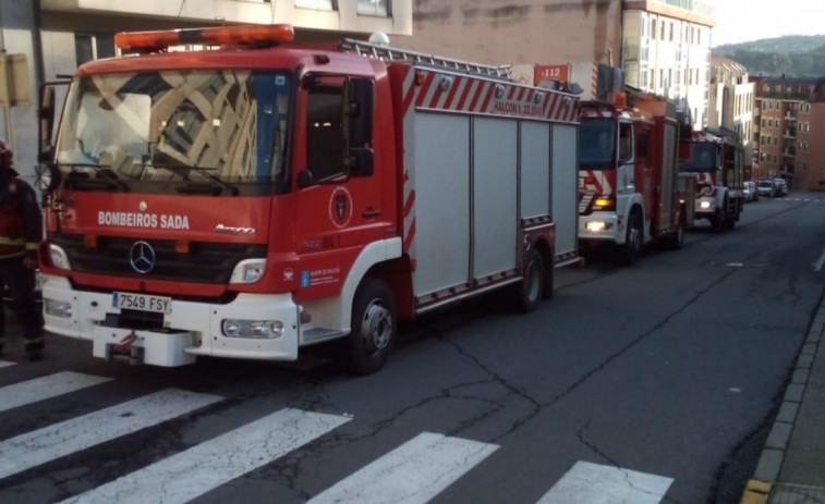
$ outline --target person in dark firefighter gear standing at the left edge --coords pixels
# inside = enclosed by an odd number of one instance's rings
[[[29,360],[43,355],[43,314],[35,302],[37,248],[43,217],[32,186],[12,168],[13,155],[0,139],[0,286],[11,294],[11,308],[23,328]],[[0,297],[0,355],[5,337],[5,309]]]

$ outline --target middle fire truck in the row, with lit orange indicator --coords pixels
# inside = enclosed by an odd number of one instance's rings
[[[680,247],[690,225],[690,181],[677,173],[679,123],[671,101],[609,93],[581,105],[579,236],[609,245],[622,262],[654,239]]]

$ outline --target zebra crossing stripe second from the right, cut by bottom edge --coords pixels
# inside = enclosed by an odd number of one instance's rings
[[[307,504],[425,503],[496,450],[495,444],[424,432]]]

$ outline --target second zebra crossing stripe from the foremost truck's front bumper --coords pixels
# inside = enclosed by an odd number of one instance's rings
[[[221,401],[167,389],[0,442],[0,479]]]

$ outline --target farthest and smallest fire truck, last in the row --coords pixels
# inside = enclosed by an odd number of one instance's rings
[[[679,143],[679,172],[696,180],[695,216],[732,230],[744,206],[744,151],[733,132],[690,132]]]

